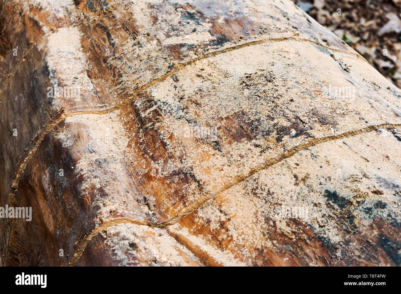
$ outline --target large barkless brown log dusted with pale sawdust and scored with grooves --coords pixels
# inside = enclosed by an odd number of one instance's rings
[[[401,91],[289,0],[3,0],[0,24],[0,206],[33,213],[1,219],[3,265],[401,264]]]

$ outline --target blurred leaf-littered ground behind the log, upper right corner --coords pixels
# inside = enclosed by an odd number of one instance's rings
[[[401,0],[292,0],[401,88]]]

